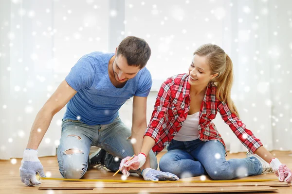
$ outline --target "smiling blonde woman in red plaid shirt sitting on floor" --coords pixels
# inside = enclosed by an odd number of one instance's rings
[[[274,171],[280,181],[291,182],[291,170],[274,158],[239,119],[230,97],[232,82],[232,61],[223,49],[212,44],[197,49],[188,73],[162,84],[141,153],[131,161],[129,157],[123,159],[122,172],[128,176],[128,170],[141,168],[151,148],[158,154],[170,142],[159,167],[179,177],[209,175],[215,180],[228,180]],[[224,141],[212,122],[217,112],[248,148],[247,158],[226,161]],[[142,172],[146,180],[177,179],[148,167],[143,166]],[[163,176],[153,178],[155,173]]]

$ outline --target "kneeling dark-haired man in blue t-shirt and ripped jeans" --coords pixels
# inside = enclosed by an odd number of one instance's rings
[[[59,171],[64,178],[81,178],[91,164],[104,164],[116,171],[121,159],[138,155],[147,128],[146,100],[152,80],[145,65],[150,55],[145,40],[128,36],[115,53],[92,52],[81,57],[37,113],[21,161],[21,181],[28,186],[40,184],[36,173],[44,177],[44,172],[37,147],[55,113],[66,104],[57,149]],[[119,118],[118,111],[133,96],[130,130]],[[130,136],[136,139],[135,144],[131,144]],[[100,149],[89,157],[91,146]],[[157,168],[153,152],[146,163]],[[140,170],[132,172],[140,173]]]

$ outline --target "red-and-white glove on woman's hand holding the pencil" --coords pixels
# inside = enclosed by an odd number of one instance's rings
[[[146,155],[144,153],[138,154],[138,156],[134,156],[132,160],[129,161],[131,157],[124,158],[120,163],[120,171],[128,177],[130,173],[129,170],[137,170],[141,168],[146,162]]]

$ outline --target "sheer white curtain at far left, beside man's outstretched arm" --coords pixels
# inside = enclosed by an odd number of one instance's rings
[[[49,64],[53,36],[48,32],[52,13],[46,13],[46,9],[52,10],[52,2],[3,0],[0,7],[3,55],[0,58],[0,159],[20,158],[34,118],[48,98],[49,85],[54,82]],[[46,134],[46,141],[39,147],[40,155],[55,154],[50,135],[52,132]]]

